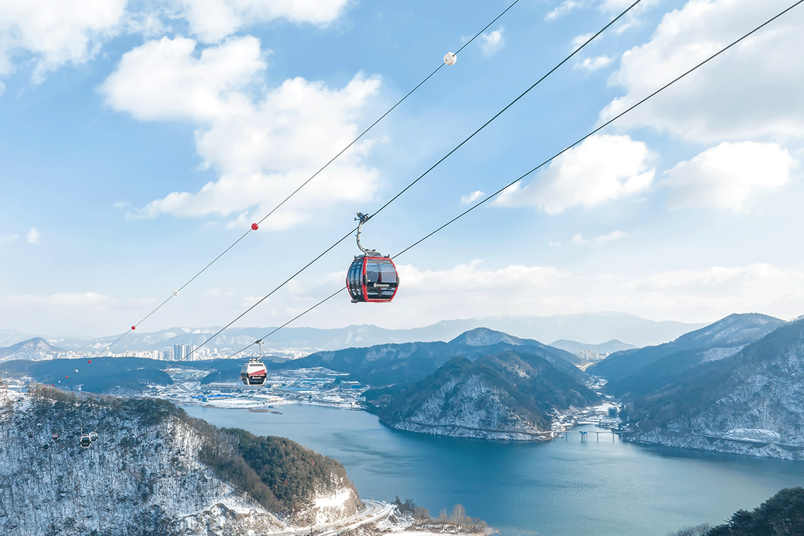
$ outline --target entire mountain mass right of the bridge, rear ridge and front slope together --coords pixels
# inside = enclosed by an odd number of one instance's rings
[[[587,371],[621,396],[628,440],[804,459],[804,318],[729,315]]]

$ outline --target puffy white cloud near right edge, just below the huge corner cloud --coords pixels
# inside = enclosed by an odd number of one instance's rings
[[[790,182],[795,159],[776,143],[723,142],[678,163],[662,181],[672,208],[708,207],[745,212],[754,198]]]

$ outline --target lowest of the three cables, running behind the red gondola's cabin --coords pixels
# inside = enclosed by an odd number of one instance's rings
[[[622,111],[621,113],[618,113],[616,116],[614,116],[613,118],[609,119],[609,121],[605,122],[605,123],[604,123],[604,124],[602,124],[601,126],[598,126],[596,129],[594,129],[594,130],[592,130],[591,132],[589,132],[589,134],[586,134],[584,137],[582,137],[582,138],[578,139],[578,141],[576,141],[576,142],[572,143],[572,145],[567,146],[567,147],[566,147],[564,150],[560,150],[560,152],[556,153],[556,155],[553,155],[553,156],[552,156],[552,157],[550,157],[549,159],[545,160],[543,163],[540,163],[538,166],[536,166],[536,167],[534,167],[533,169],[531,169],[531,171],[527,171],[527,173],[525,173],[525,174],[523,174],[523,175],[519,176],[517,179],[515,179],[515,180],[511,181],[511,183],[508,183],[508,184],[507,184],[506,186],[504,186],[503,188],[498,189],[498,191],[497,191],[497,192],[494,192],[493,194],[490,194],[489,196],[486,196],[486,198],[484,198],[483,200],[478,201],[478,203],[476,203],[476,204],[472,205],[470,208],[467,208],[467,209],[466,209],[466,211],[461,212],[461,214],[458,214],[457,216],[453,217],[453,219],[452,219],[452,220],[447,221],[447,222],[446,222],[444,225],[441,225],[441,227],[438,227],[438,228],[437,228],[437,229],[435,229],[433,232],[431,232],[431,233],[429,233],[429,234],[425,235],[425,237],[422,237],[422,238],[420,238],[418,241],[415,241],[415,242],[413,242],[411,245],[408,245],[408,247],[407,247],[407,248],[403,249],[402,251],[400,251],[400,253],[398,253],[398,254],[394,255],[393,257],[394,257],[394,258],[399,257],[401,254],[404,254],[404,253],[405,253],[405,252],[407,252],[409,249],[412,249],[412,248],[416,247],[416,245],[419,245],[421,242],[423,242],[423,241],[427,240],[429,237],[432,237],[434,234],[438,233],[439,231],[441,231],[441,229],[444,229],[444,228],[445,228],[445,227],[447,227],[448,225],[452,224],[454,221],[457,221],[457,220],[461,219],[461,217],[466,216],[466,214],[468,214],[469,212],[473,211],[475,208],[478,208],[480,205],[485,204],[485,203],[486,203],[486,201],[491,200],[491,199],[492,199],[492,198],[494,198],[495,196],[498,196],[500,193],[502,193],[503,191],[505,191],[507,188],[510,188],[510,187],[511,187],[513,184],[518,183],[518,182],[519,182],[520,180],[522,180],[523,178],[527,177],[528,175],[531,175],[531,174],[532,174],[534,171],[537,171],[537,170],[539,170],[539,168],[544,167],[546,164],[550,163],[550,162],[551,162],[553,159],[556,159],[556,157],[558,157],[558,156],[560,156],[560,155],[564,154],[564,152],[566,152],[567,150],[571,149],[572,147],[574,147],[574,146],[578,145],[580,142],[583,142],[583,141],[584,141],[586,138],[589,138],[590,136],[592,136],[593,134],[596,134],[597,132],[599,132],[600,130],[602,130],[603,128],[605,128],[606,126],[609,126],[611,123],[613,123],[613,122],[617,121],[617,119],[619,119],[619,118],[621,118],[622,116],[626,115],[626,113],[629,113],[631,110],[633,110],[634,108],[637,108],[639,105],[644,104],[646,101],[648,101],[648,100],[650,100],[651,98],[653,98],[653,97],[655,97],[656,95],[658,95],[658,93],[662,93],[662,91],[664,91],[665,89],[669,88],[671,85],[674,85],[674,84],[675,84],[676,82],[678,82],[679,80],[682,80],[682,79],[683,79],[685,76],[687,76],[687,75],[691,74],[691,72],[694,72],[694,71],[695,71],[695,70],[697,70],[698,68],[700,68],[700,67],[704,66],[704,64],[707,64],[709,61],[714,60],[714,59],[715,59],[717,56],[720,56],[720,55],[721,55],[721,54],[723,54],[724,52],[728,51],[728,49],[729,49],[729,48],[734,47],[736,44],[738,44],[738,43],[740,43],[741,41],[743,41],[743,40],[747,39],[749,36],[753,35],[753,34],[754,34],[754,33],[756,33],[757,31],[761,30],[763,27],[767,26],[769,23],[772,23],[774,20],[778,19],[778,18],[779,18],[779,17],[781,17],[783,14],[786,14],[788,11],[792,10],[794,7],[798,6],[798,5],[799,5],[799,4],[801,4],[802,2],[804,2],[804,0],[798,0],[798,2],[795,2],[793,5],[791,5],[790,7],[786,8],[786,10],[782,10],[780,13],[778,13],[778,14],[774,15],[772,18],[770,18],[770,19],[768,19],[767,21],[765,21],[765,23],[761,23],[759,26],[757,26],[756,28],[754,28],[752,31],[749,31],[748,33],[746,33],[745,35],[743,35],[743,36],[742,36],[742,37],[740,37],[739,39],[736,39],[736,40],[735,40],[735,41],[733,41],[732,43],[728,44],[726,47],[721,48],[721,49],[720,49],[720,51],[716,52],[715,54],[712,54],[712,56],[709,56],[709,57],[708,57],[706,60],[701,61],[699,64],[695,65],[695,67],[693,67],[693,68],[691,68],[691,69],[687,70],[686,72],[684,72],[683,74],[681,74],[681,75],[677,76],[675,79],[671,80],[671,81],[670,81],[670,82],[668,82],[667,84],[662,85],[662,87],[661,87],[661,88],[659,88],[659,89],[655,90],[653,93],[650,93],[650,94],[649,94],[647,97],[642,98],[642,100],[638,101],[638,102],[637,102],[636,104],[634,104],[634,105],[631,105],[629,108],[625,109],[625,110],[624,110],[624,111]],[[287,326],[288,324],[290,324],[290,323],[291,323],[291,322],[293,322],[294,320],[297,320],[297,319],[301,318],[301,316],[306,315],[308,312],[312,311],[313,309],[315,309],[315,308],[316,308],[316,307],[318,307],[319,305],[322,305],[322,303],[325,303],[325,302],[326,302],[326,301],[328,301],[329,299],[334,298],[334,296],[335,296],[335,295],[338,295],[338,294],[339,294],[340,292],[342,292],[343,290],[344,290],[344,288],[343,288],[343,287],[342,287],[342,288],[340,288],[340,289],[338,289],[338,291],[335,291],[333,294],[331,294],[331,295],[327,296],[325,299],[322,299],[320,302],[316,303],[315,305],[313,305],[312,307],[310,307],[310,308],[309,308],[309,309],[307,309],[306,311],[301,312],[301,314],[299,314],[299,315],[297,315],[297,316],[293,317],[293,319],[288,320],[287,322],[285,322],[285,324],[282,324],[282,325],[281,325],[281,326],[279,326],[278,328],[274,328],[272,332],[269,332],[267,335],[262,336],[262,337],[260,338],[260,341],[261,341],[261,340],[264,340],[264,339],[266,339],[266,338],[268,338],[268,337],[269,337],[269,336],[271,336],[271,335],[273,335],[273,333],[276,333],[276,332],[277,332],[277,331],[279,331],[281,328],[285,328],[285,326]],[[248,344],[248,346],[246,346],[245,348],[240,349],[238,352],[233,353],[232,355],[230,355],[230,356],[228,356],[228,357],[224,357],[224,359],[221,359],[221,360],[219,360],[219,361],[216,361],[216,362],[215,362],[213,365],[211,365],[211,366],[210,366],[210,367],[208,367],[207,369],[204,369],[204,370],[202,370],[201,372],[196,373],[195,375],[193,375],[193,376],[191,376],[191,377],[187,378],[186,380],[183,380],[183,381],[178,382],[178,384],[177,384],[177,385],[181,385],[181,384],[182,384],[182,383],[184,383],[185,381],[188,381],[188,380],[190,380],[190,379],[191,379],[191,378],[193,378],[193,377],[197,377],[197,376],[199,376],[199,374],[201,374],[201,373],[208,372],[209,370],[211,370],[212,368],[214,368],[216,365],[219,365],[220,363],[222,363],[222,362],[224,362],[224,361],[227,361],[228,359],[230,359],[230,358],[232,358],[232,357],[235,357],[236,355],[238,355],[238,354],[240,354],[240,353],[243,353],[243,352],[244,352],[246,349],[248,349],[249,347],[253,346],[254,344],[256,344],[256,342],[255,342],[255,343],[252,343],[252,344]]]

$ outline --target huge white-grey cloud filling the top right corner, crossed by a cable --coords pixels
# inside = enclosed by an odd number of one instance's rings
[[[634,105],[789,6],[785,0],[691,0],[666,14],[650,41],[610,78],[626,94],[601,120]],[[793,10],[618,120],[695,142],[804,136],[804,12]]]

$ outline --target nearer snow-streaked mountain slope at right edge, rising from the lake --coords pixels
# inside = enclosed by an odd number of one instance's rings
[[[628,406],[630,440],[804,460],[804,320]]]

